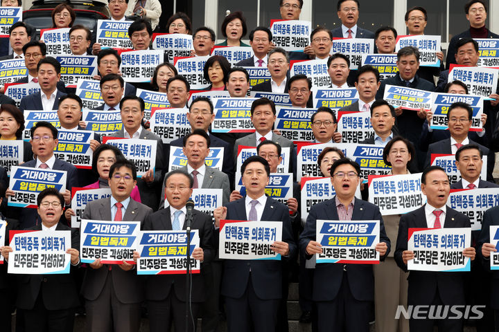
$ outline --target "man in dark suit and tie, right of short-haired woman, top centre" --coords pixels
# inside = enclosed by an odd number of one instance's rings
[[[240,67],[265,67],[268,64],[267,53],[272,44],[272,33],[265,26],[257,26],[249,33],[249,45],[252,46],[254,55],[243,59],[236,64]]]

